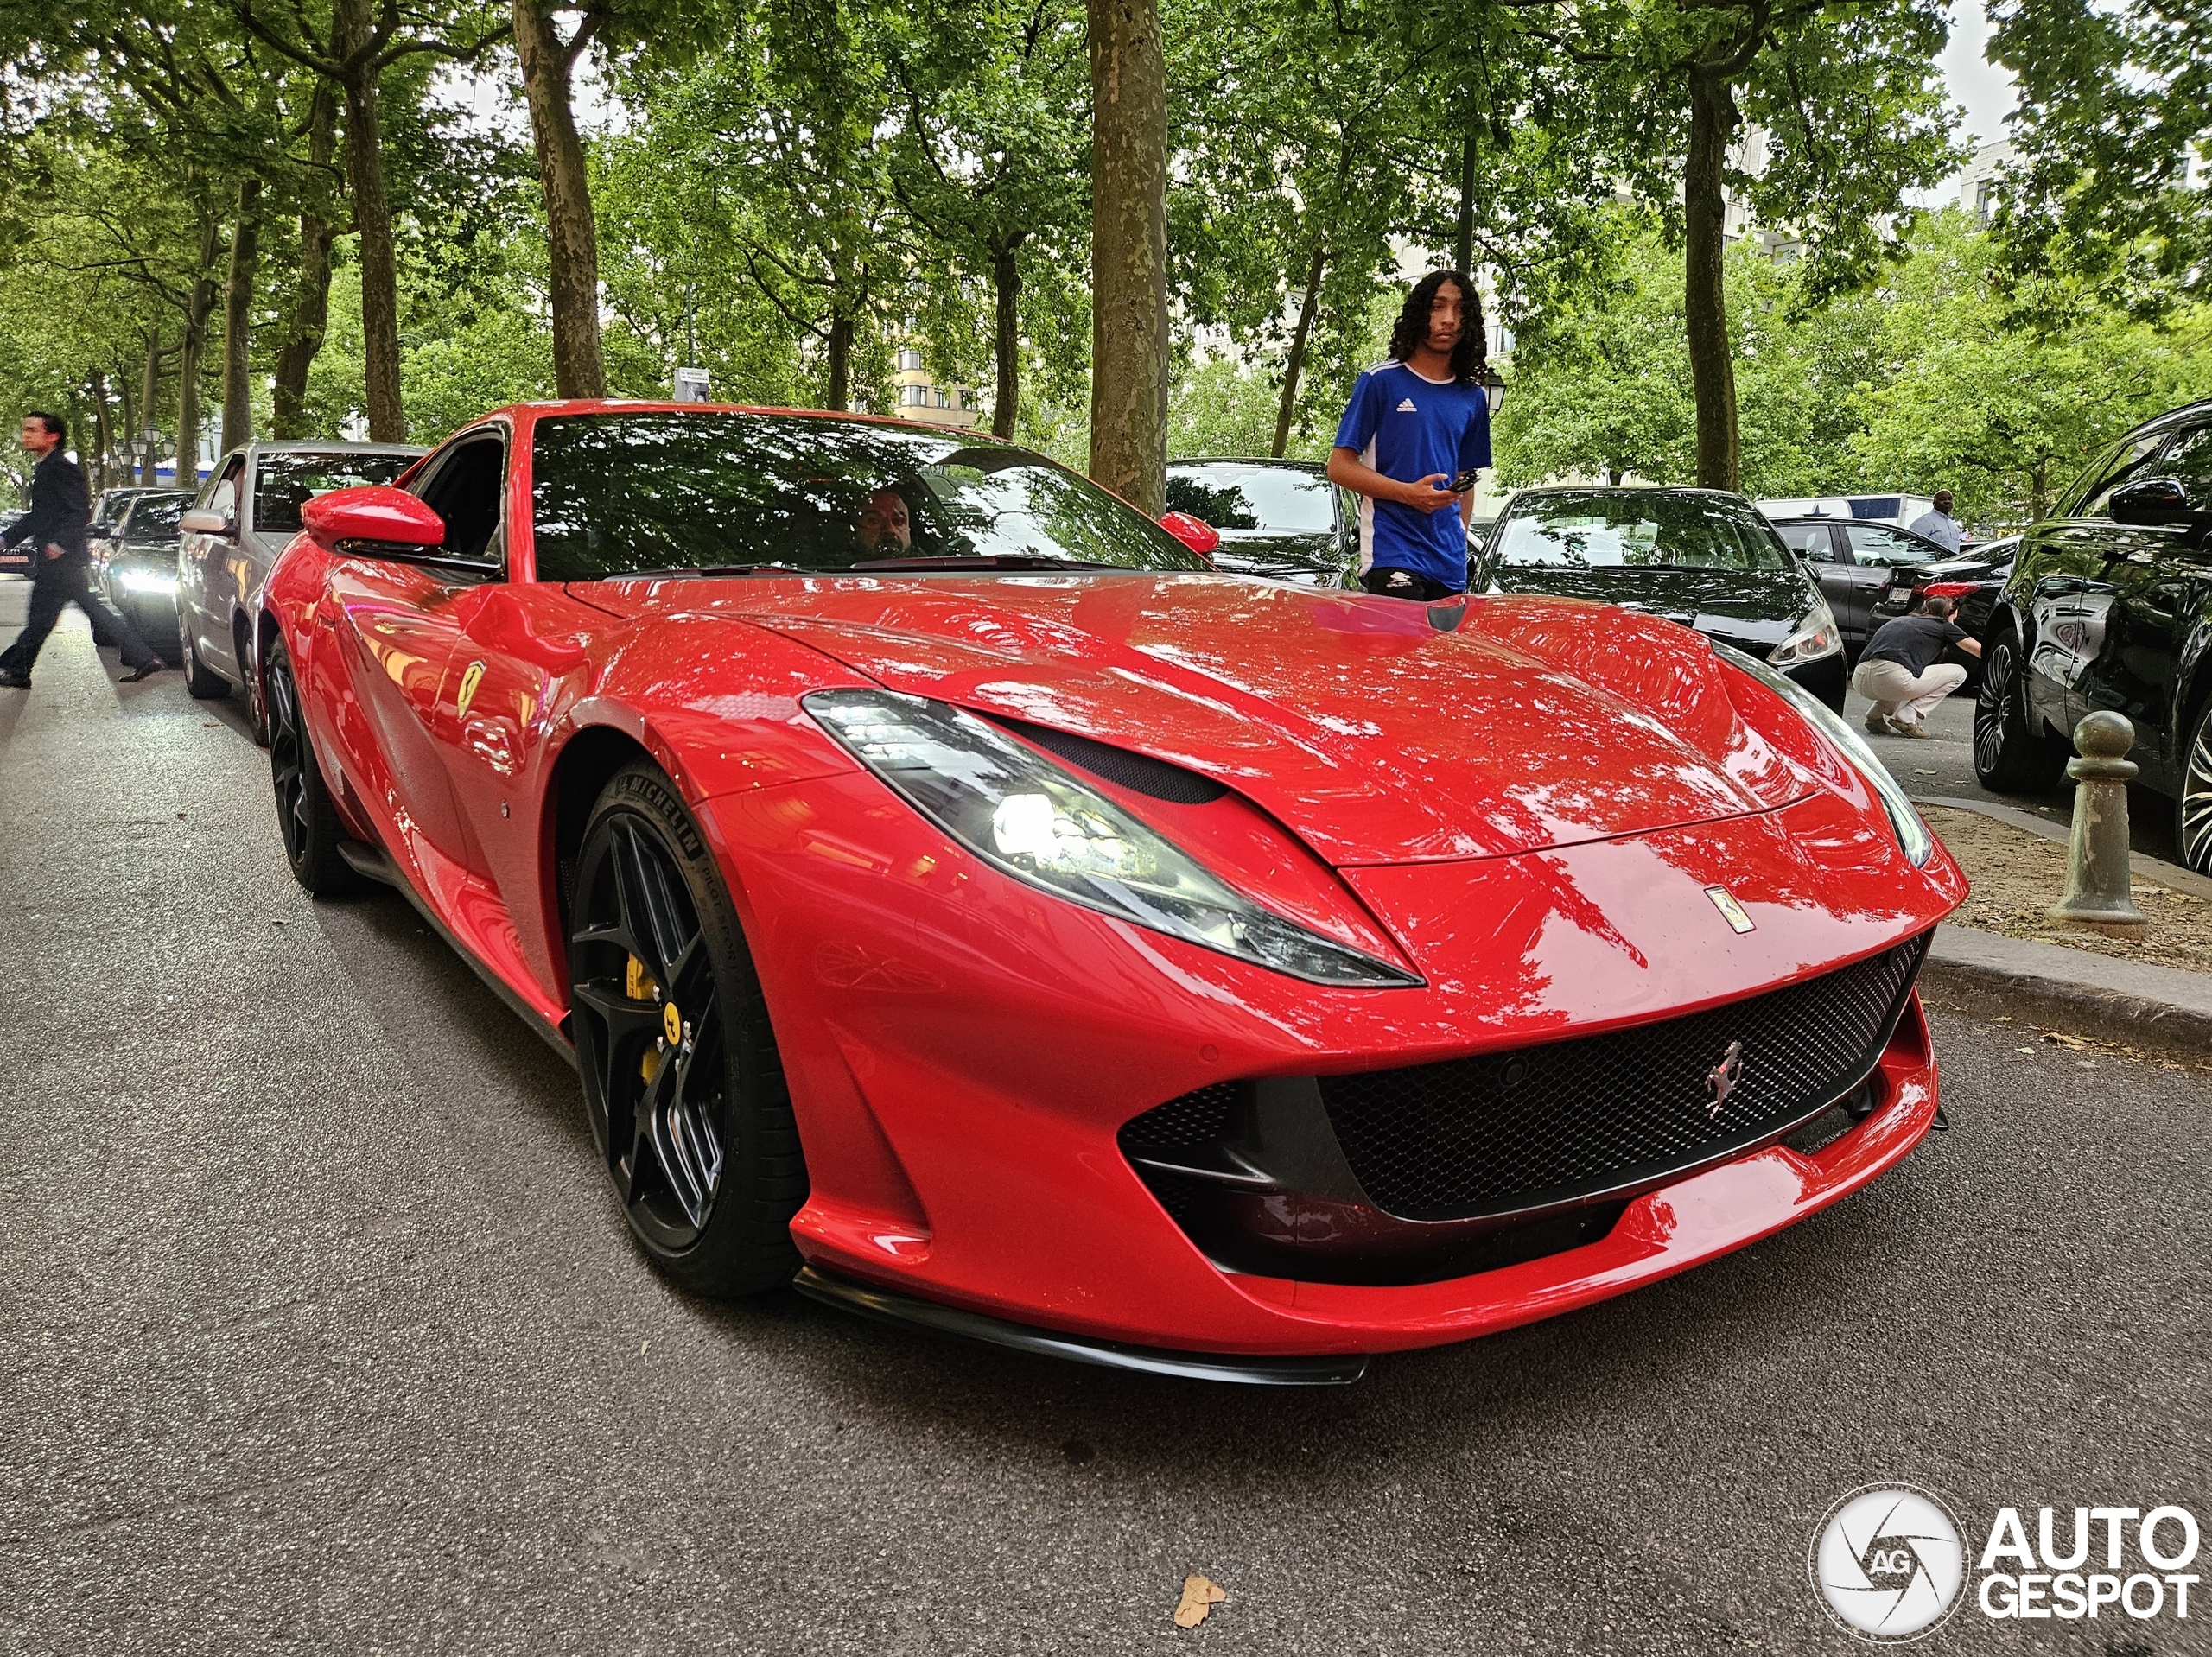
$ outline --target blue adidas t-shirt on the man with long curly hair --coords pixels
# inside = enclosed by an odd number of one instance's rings
[[[1376,363],[1352,387],[1336,447],[1385,478],[1442,476],[1438,489],[1449,489],[1462,471],[1491,465],[1491,405],[1480,385],[1427,381],[1405,363]],[[1467,524],[1458,507],[1425,513],[1360,496],[1360,573],[1376,566],[1464,588]]]

